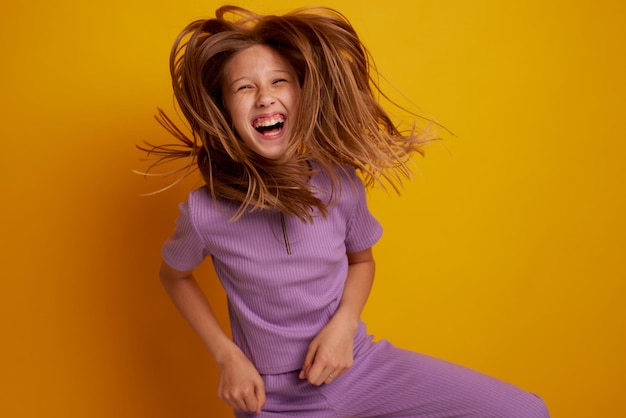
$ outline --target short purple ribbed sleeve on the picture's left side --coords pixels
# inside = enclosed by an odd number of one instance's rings
[[[196,268],[207,255],[206,245],[198,234],[188,202],[179,205],[176,228],[161,249],[163,260],[180,271]]]

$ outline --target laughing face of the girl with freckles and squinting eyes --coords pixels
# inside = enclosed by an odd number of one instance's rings
[[[228,61],[222,90],[226,111],[243,142],[265,158],[283,157],[300,98],[291,64],[272,48],[253,45]]]

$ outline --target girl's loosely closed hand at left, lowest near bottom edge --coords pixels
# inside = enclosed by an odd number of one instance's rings
[[[235,350],[220,365],[217,395],[235,409],[261,413],[265,404],[265,385],[252,362],[241,351]]]

